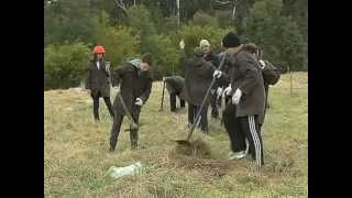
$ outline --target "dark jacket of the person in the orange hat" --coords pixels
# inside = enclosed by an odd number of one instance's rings
[[[97,96],[100,91],[101,97],[110,97],[110,74],[106,69],[105,62],[100,62],[100,67],[98,70],[95,61],[90,62],[87,79],[87,89],[91,90],[92,96]]]

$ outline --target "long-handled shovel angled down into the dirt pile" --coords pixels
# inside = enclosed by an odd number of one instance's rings
[[[226,54],[224,54],[224,55],[222,56],[222,58],[221,58],[220,66],[219,66],[219,68],[218,68],[219,70],[222,69],[222,66],[223,66],[223,63],[224,63],[224,58],[226,58]],[[189,142],[190,136],[191,136],[191,134],[193,134],[194,131],[195,131],[195,128],[196,128],[196,125],[197,125],[197,123],[198,123],[198,120],[199,120],[199,118],[200,118],[201,111],[202,111],[202,109],[204,109],[205,106],[206,106],[207,98],[209,97],[210,90],[211,90],[213,84],[216,82],[216,80],[217,80],[217,78],[213,77],[212,80],[211,80],[211,82],[210,82],[210,86],[209,86],[209,88],[208,88],[208,90],[207,90],[207,94],[206,94],[205,98],[202,99],[201,106],[200,106],[200,108],[199,108],[199,110],[198,110],[198,112],[197,112],[197,117],[196,117],[196,119],[195,119],[194,123],[191,124],[191,128],[190,128],[190,130],[189,130],[189,132],[188,132],[187,139],[186,139],[186,140],[175,140],[178,144],[188,145],[188,146],[191,145],[190,142]]]

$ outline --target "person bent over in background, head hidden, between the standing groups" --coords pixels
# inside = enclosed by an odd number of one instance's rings
[[[180,108],[185,108],[185,100],[180,98],[180,92],[185,85],[185,78],[180,76],[169,76],[165,79],[166,89],[169,94],[170,111],[176,111],[176,97],[179,99]]]

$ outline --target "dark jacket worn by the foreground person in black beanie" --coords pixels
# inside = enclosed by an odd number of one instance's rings
[[[239,88],[242,97],[237,106],[237,117],[263,114],[265,91],[262,70],[253,54],[245,51],[230,57],[231,96]]]

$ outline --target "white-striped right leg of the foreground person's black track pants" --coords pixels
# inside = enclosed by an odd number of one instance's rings
[[[238,119],[240,130],[250,143],[252,158],[256,161],[257,165],[264,165],[263,141],[257,123],[257,116],[239,117]]]

